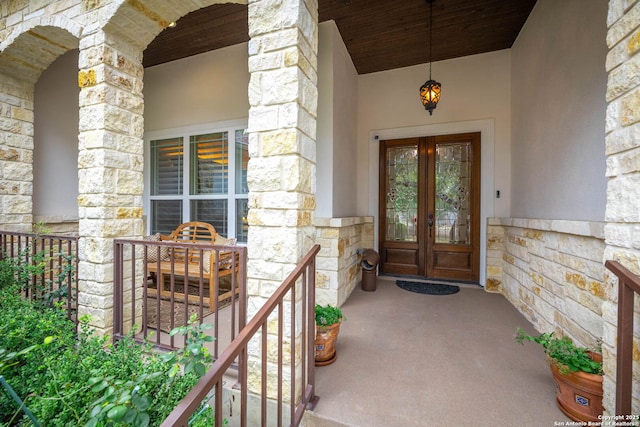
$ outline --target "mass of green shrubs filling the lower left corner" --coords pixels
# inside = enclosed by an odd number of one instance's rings
[[[61,310],[15,290],[0,289],[0,362],[16,353],[2,375],[44,426],[159,425],[213,362],[204,347],[208,326],[195,318],[172,331],[185,335],[185,348],[158,354],[132,337],[110,344],[92,334],[87,319],[76,336]],[[203,408],[192,425],[212,424],[212,410]],[[30,423],[2,391],[0,426],[13,425]]]

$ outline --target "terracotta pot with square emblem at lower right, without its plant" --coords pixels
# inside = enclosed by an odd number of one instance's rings
[[[602,361],[602,355],[591,354],[592,359]],[[602,415],[602,375],[586,372],[567,372],[550,364],[553,379],[558,387],[556,402],[560,410],[573,421],[599,421]]]

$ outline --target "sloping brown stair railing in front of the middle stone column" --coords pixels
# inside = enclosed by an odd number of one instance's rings
[[[231,345],[224,350],[211,369],[171,412],[161,427],[186,427],[191,415],[198,410],[203,402],[208,402],[209,399],[213,401],[215,426],[222,426],[224,417],[231,413],[230,410],[223,414],[223,376],[237,358],[239,360],[239,374],[238,384],[235,388],[239,388],[240,408],[239,414],[236,409],[233,409],[233,416],[239,416],[239,423],[233,423],[233,425],[280,427],[285,423],[285,416],[289,419],[291,426],[300,424],[305,409],[313,409],[318,400],[314,388],[314,313],[315,257],[319,250],[320,246],[315,245],[309,251],[247,326],[240,331]],[[301,292],[300,297],[298,292]],[[299,300],[302,301],[301,304]],[[298,309],[301,310],[299,315]],[[285,324],[285,319],[288,324]],[[277,341],[276,338],[273,338],[274,341],[269,340],[267,330],[270,333],[276,333]],[[296,337],[296,331],[301,334],[299,338]],[[284,351],[285,345],[287,351]],[[250,363],[248,355],[250,348],[254,356],[258,357],[256,353],[259,353],[259,361],[252,363],[252,366],[254,368],[260,367],[259,375],[257,372],[252,372],[255,377],[259,376],[260,380],[257,381],[257,378],[251,380],[252,387],[259,387],[259,396],[257,393],[252,395],[256,400],[259,400],[259,403],[253,406],[253,409],[259,414],[255,415],[251,421],[248,415],[248,365]],[[298,349],[301,352],[300,358],[297,355]],[[297,363],[300,363],[301,367],[297,367]],[[288,367],[285,366],[287,364]],[[285,367],[288,372],[285,372]],[[290,395],[288,396],[290,406],[289,413],[285,414],[283,379],[287,375],[290,381]],[[270,385],[267,380],[270,381]],[[258,390],[254,391],[258,392]],[[211,397],[212,392],[213,397]],[[275,401],[275,409],[272,407],[271,412],[268,412],[269,394]],[[297,396],[300,396],[299,400]],[[233,399],[234,397],[225,400],[225,404]]]

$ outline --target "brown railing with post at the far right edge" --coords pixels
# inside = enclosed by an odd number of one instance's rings
[[[617,261],[606,261],[618,276],[618,354],[616,360],[616,415],[632,415],[633,383],[633,307],[640,294],[640,278]]]

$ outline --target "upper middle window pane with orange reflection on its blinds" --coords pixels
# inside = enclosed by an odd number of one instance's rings
[[[227,194],[229,186],[229,138],[227,132],[190,137],[191,177],[189,194]]]

